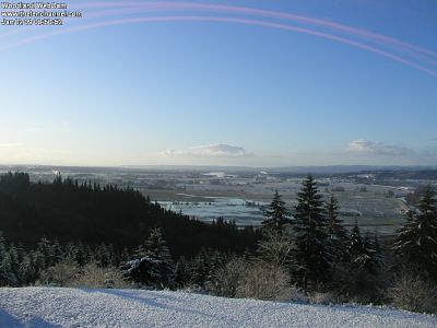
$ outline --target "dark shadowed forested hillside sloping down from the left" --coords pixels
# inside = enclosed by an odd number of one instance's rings
[[[201,247],[244,253],[259,238],[251,227],[240,230],[222,219],[206,224],[167,211],[129,188],[78,184],[60,176],[51,184],[31,183],[25,173],[0,177],[0,231],[25,248],[46,237],[62,245],[106,243],[120,253],[142,244],[154,227],[162,229],[175,259],[191,258]]]

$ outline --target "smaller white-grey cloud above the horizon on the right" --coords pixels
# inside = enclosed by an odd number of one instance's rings
[[[349,143],[347,152],[357,154],[373,154],[382,156],[408,156],[415,153],[414,150],[399,144],[386,144],[364,139],[353,140]]]

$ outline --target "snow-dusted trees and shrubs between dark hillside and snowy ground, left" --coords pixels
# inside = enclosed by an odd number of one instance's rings
[[[8,243],[0,232],[0,286],[55,285],[88,288],[204,289],[232,253],[200,248],[175,261],[161,229],[152,229],[135,248],[118,251],[111,244],[61,245],[42,238],[35,247]]]

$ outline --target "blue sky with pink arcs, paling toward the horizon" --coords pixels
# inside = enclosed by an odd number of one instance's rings
[[[437,165],[436,1],[66,3],[0,25],[0,164]]]

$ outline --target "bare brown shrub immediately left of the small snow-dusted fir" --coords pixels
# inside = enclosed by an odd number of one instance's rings
[[[114,267],[101,268],[96,263],[88,263],[82,268],[81,273],[70,283],[71,286],[98,288],[129,288],[122,273]]]

